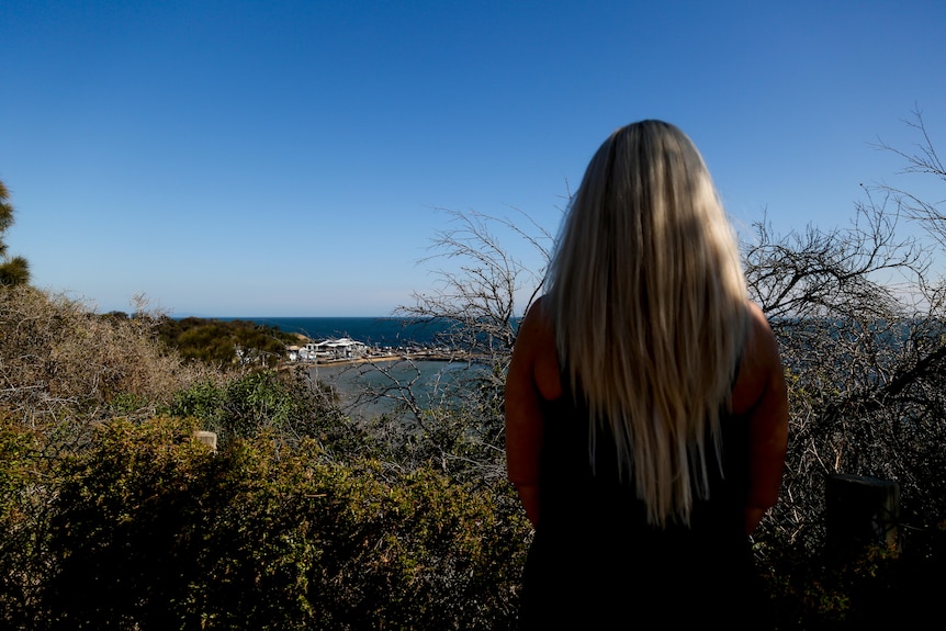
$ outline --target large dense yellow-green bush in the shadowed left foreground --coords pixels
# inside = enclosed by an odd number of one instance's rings
[[[112,421],[60,463],[22,628],[513,627],[527,529],[489,494],[193,429]]]

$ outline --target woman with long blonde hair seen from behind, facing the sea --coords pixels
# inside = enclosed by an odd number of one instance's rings
[[[660,121],[588,165],[506,385],[536,527],[523,628],[759,628],[748,533],[778,496],[788,402],[691,140]],[[632,624],[632,622],[637,624]]]

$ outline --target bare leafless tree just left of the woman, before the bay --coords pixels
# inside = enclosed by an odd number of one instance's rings
[[[433,462],[465,480],[505,478],[503,388],[519,318],[541,289],[552,236],[527,214],[496,217],[474,211],[443,211],[421,264],[436,264],[430,292],[417,292],[396,316],[414,328],[438,331],[435,345],[452,353],[441,371],[402,360],[352,367],[362,391],[353,402],[382,402],[385,412],[367,419],[371,433],[390,447],[390,461]],[[540,263],[513,255],[504,238],[526,244]]]

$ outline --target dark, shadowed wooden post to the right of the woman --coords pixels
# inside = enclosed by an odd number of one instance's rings
[[[849,556],[869,545],[900,551],[900,484],[866,475],[829,475],[824,483],[827,552]]]

